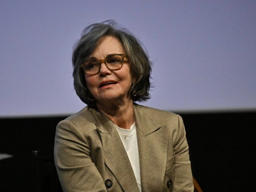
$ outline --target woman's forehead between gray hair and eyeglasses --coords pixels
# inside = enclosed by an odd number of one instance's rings
[[[101,38],[91,56],[100,59],[110,54],[125,54],[125,51],[116,37],[106,36]]]

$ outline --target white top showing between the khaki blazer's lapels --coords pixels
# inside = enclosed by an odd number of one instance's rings
[[[115,127],[123,142],[123,145],[129,157],[136,181],[138,183],[139,191],[141,192],[138,142],[137,142],[137,133],[136,133],[135,123],[132,124],[130,129],[119,128],[116,125]]]

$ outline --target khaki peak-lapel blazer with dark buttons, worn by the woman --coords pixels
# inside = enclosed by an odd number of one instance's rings
[[[142,191],[193,192],[182,118],[137,104],[134,112]],[[139,192],[119,133],[98,109],[57,125],[54,155],[64,192]]]

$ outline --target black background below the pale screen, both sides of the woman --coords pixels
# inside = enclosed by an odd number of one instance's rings
[[[179,114],[190,145],[193,175],[202,190],[255,191],[256,111]],[[53,157],[55,127],[65,118],[0,119],[0,154],[13,155],[0,160],[0,192],[35,191],[32,151]]]

